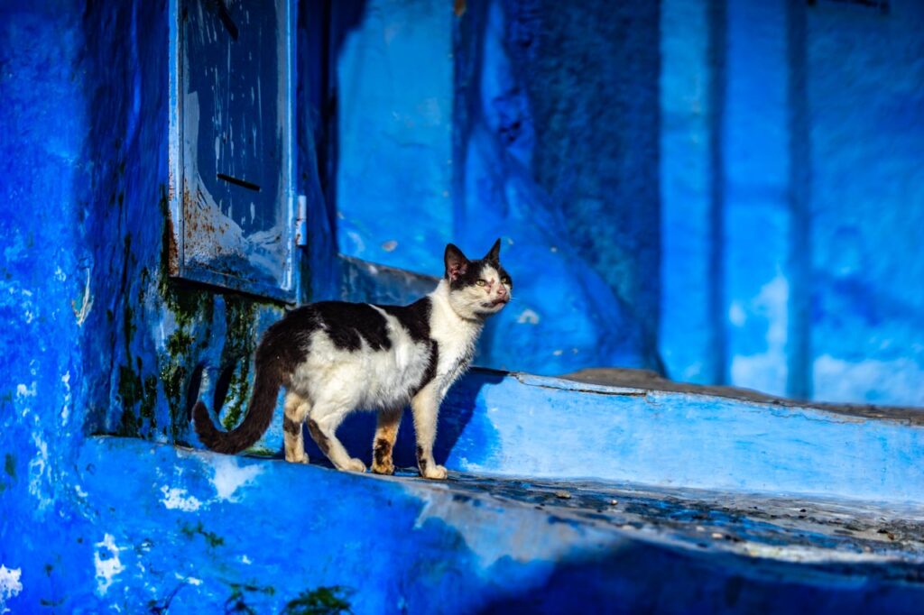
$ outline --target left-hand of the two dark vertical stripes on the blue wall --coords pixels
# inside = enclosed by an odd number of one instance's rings
[[[726,333],[727,309],[725,307],[724,266],[724,115],[725,115],[725,67],[728,49],[728,15],[726,0],[711,0],[709,29],[710,81],[710,242],[709,242],[709,315],[711,320],[711,381],[725,384],[728,381],[728,336]]]

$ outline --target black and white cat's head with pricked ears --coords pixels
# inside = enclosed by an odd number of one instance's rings
[[[483,259],[469,260],[458,247],[449,244],[443,257],[449,283],[449,303],[468,319],[484,319],[510,302],[513,281],[501,266],[501,240]]]

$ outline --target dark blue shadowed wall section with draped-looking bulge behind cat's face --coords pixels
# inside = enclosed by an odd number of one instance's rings
[[[458,226],[511,237],[522,271],[482,344],[505,368],[662,370],[658,10],[615,11],[498,1],[457,24]]]

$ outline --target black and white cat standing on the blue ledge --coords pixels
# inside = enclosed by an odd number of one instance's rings
[[[444,279],[409,306],[331,301],[292,310],[257,348],[244,420],[219,431],[198,402],[193,416],[200,440],[218,452],[248,448],[269,428],[282,386],[287,461],[308,463],[302,440],[307,419],[311,438],[334,466],[364,472],[336,438],[346,415],[362,408],[379,412],[372,471],[392,474],[398,425],[410,404],[420,476],[445,478],[446,469],[433,462],[436,417],[449,387],[468,368],[485,320],[510,301],[512,282],[500,250],[498,239],[483,259],[469,260],[449,244]]]

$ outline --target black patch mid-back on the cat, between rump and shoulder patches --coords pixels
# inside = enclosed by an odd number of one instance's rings
[[[322,329],[334,346],[351,352],[362,347],[362,341],[372,350],[389,350],[385,317],[365,303],[322,301],[311,306],[321,320]]]

